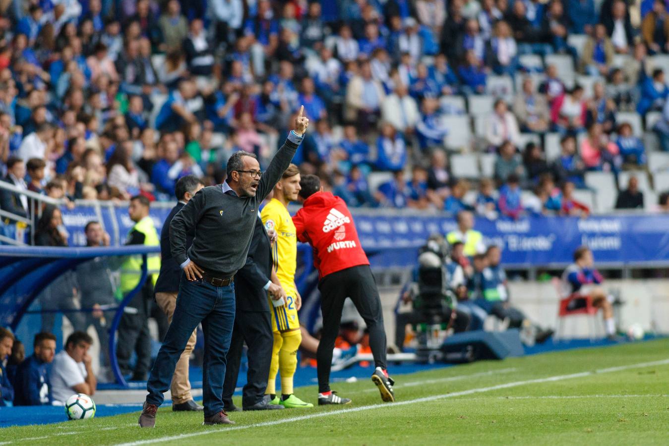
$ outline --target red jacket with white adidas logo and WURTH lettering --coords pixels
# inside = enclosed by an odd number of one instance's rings
[[[353,217],[343,199],[317,192],[293,217],[297,239],[314,250],[318,277],[358,265],[369,265]]]

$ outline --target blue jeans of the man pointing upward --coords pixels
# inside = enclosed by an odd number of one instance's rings
[[[191,333],[202,322],[205,335],[202,396],[205,417],[223,410],[225,355],[235,323],[235,286],[213,286],[201,280],[189,282],[181,275],[177,306],[165,341],[158,352],[147,383],[147,402],[161,405],[172,382],[175,366]]]

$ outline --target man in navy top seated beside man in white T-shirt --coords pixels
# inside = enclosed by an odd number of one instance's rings
[[[15,406],[43,406],[52,403],[51,384],[47,366],[56,354],[56,336],[38,333],[33,344],[34,353],[16,370],[14,377]]]

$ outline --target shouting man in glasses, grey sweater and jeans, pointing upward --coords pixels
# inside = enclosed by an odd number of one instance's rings
[[[205,425],[234,424],[223,411],[225,355],[235,318],[233,277],[246,264],[258,207],[281,179],[304,139],[309,120],[295,120],[295,130],[274,155],[266,172],[254,154],[236,152],[227,162],[227,179],[205,187],[175,215],[170,224],[172,255],[185,274],[172,324],[161,346],[149,382],[140,427],[154,427],[158,406],[165,401],[177,360],[200,322],[205,338],[202,394]],[[193,245],[186,234],[195,228]]]

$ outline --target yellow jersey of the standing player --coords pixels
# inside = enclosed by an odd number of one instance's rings
[[[262,209],[260,214],[266,229],[274,229],[278,236],[272,247],[272,259],[276,276],[284,290],[290,294],[294,288],[295,269],[297,267],[297,237],[295,225],[288,209],[277,199]]]

